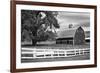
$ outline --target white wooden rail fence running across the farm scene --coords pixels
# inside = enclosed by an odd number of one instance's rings
[[[55,58],[55,57],[72,57],[85,55],[90,53],[89,48],[85,49],[32,49],[22,48],[22,59],[35,59],[35,58]]]

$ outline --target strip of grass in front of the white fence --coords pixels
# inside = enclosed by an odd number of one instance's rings
[[[41,58],[41,59],[22,59],[22,63],[31,63],[31,62],[52,62],[52,61],[77,61],[77,60],[89,60],[90,54],[85,54],[81,56],[73,57],[57,57],[57,58]]]

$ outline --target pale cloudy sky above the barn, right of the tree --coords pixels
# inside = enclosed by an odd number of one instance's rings
[[[72,24],[73,27],[90,27],[90,13],[86,12],[59,11],[57,15],[57,20],[60,25],[59,31],[68,29],[69,24]]]

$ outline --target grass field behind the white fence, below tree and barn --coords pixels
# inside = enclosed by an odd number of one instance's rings
[[[22,45],[22,48],[41,48],[41,49],[78,49],[78,48],[90,48],[90,44],[85,45],[67,45],[67,44],[56,44],[55,42],[41,42],[38,43],[36,46],[32,45]]]

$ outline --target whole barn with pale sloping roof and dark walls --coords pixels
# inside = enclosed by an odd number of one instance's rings
[[[81,26],[60,31],[56,44],[83,45],[85,44],[85,32]]]

